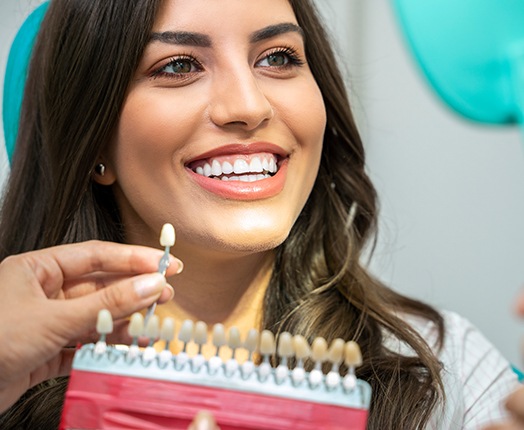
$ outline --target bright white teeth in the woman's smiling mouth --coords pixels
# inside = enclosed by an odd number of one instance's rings
[[[278,170],[275,157],[253,156],[229,161],[208,160],[193,169],[195,173],[222,181],[254,182],[270,178]]]

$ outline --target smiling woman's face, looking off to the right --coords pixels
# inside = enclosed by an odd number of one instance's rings
[[[289,234],[325,128],[286,0],[164,0],[108,152],[130,242],[252,253]],[[326,65],[327,67],[327,65]]]

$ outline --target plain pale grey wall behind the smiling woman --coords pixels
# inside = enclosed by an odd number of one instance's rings
[[[1,1],[0,96],[11,42],[40,3]],[[522,368],[524,321],[513,305],[524,291],[524,134],[468,122],[444,106],[408,53],[388,0],[316,3],[379,191],[372,271],[402,293],[467,317]],[[0,189],[9,172],[3,139],[2,132]]]

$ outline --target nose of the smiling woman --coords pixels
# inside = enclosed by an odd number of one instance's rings
[[[215,77],[211,92],[209,116],[219,127],[254,130],[274,115],[270,101],[247,65]]]

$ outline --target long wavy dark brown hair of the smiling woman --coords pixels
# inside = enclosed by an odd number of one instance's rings
[[[95,184],[91,174],[115,130],[159,3],[51,2],[31,61],[1,213],[0,259],[65,242],[125,240],[111,189]],[[375,237],[376,191],[318,14],[309,0],[290,3],[304,29],[307,61],[323,94],[327,127],[313,191],[277,250],[262,325],[310,340],[356,340],[364,354],[358,376],[373,388],[368,428],[423,428],[444,400],[441,369],[431,348],[402,316],[434,323],[439,333],[435,348],[443,340],[442,317],[385,287],[360,263]],[[358,210],[348,222],[354,203]],[[414,354],[387,349],[384,338],[391,335]]]

